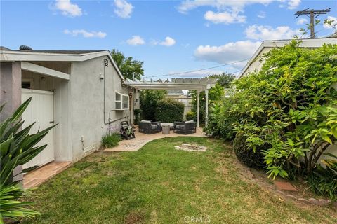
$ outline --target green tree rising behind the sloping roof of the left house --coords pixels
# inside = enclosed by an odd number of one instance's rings
[[[125,57],[122,52],[115,49],[112,50],[111,56],[124,78],[133,80],[134,77],[140,80],[144,75],[143,62],[134,60],[133,57]]]

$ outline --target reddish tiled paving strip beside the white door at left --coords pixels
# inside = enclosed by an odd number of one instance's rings
[[[46,165],[23,175],[23,188],[36,187],[67,169],[71,164],[72,162],[49,162]]]

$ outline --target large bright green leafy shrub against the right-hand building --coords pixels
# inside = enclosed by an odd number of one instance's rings
[[[337,137],[337,45],[299,44],[270,50],[260,71],[234,83],[232,111],[242,116],[236,130],[251,148],[272,145],[265,162],[273,177],[311,174]]]

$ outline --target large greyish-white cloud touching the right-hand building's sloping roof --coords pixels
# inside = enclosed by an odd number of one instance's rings
[[[208,62],[227,64],[249,59],[260,44],[260,41],[237,41],[220,46],[199,45],[194,51],[194,57]],[[232,64],[232,66],[242,68],[244,64],[246,64],[246,62]]]

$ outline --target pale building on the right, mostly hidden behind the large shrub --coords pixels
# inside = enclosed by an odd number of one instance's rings
[[[247,62],[246,66],[244,66],[244,69],[239,73],[238,78],[241,78],[242,76],[249,75],[249,73],[261,69],[263,65],[263,61],[260,61],[260,57],[265,54],[266,52],[270,51],[272,48],[279,48],[283,47],[287,43],[289,43],[291,40],[280,40],[280,41],[263,41],[263,43],[260,45],[258,50],[253,54],[253,57],[249,59],[249,62]],[[300,43],[300,48],[319,48],[322,47],[322,45],[325,44],[337,44],[337,38],[312,38],[312,39],[303,39]],[[337,85],[334,85],[335,89],[337,90]],[[333,153],[337,155],[337,146],[331,145],[329,148],[325,151],[325,153]],[[324,155],[322,155],[322,159],[326,158]]]

